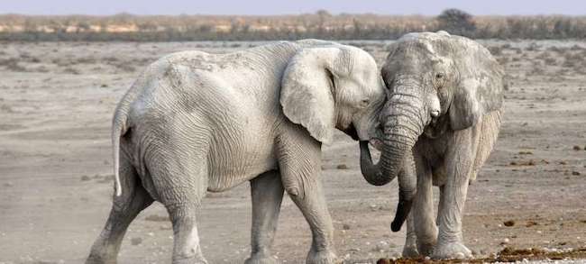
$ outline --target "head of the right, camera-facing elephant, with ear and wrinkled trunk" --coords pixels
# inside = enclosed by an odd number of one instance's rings
[[[466,129],[502,105],[499,63],[479,43],[447,32],[401,37],[390,47],[381,73],[389,100],[381,110],[384,147],[376,167],[383,177],[371,173],[377,184],[396,177],[419,137]],[[414,194],[415,185],[400,186],[398,212],[408,213],[412,197],[401,201],[403,193]],[[393,231],[406,216],[395,218]]]

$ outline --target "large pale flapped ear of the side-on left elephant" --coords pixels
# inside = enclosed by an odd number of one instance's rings
[[[280,105],[293,122],[304,126],[317,141],[332,142],[335,128],[334,74],[338,48],[299,50],[281,80]]]

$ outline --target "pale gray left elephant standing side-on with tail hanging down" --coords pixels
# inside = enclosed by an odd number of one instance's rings
[[[333,42],[159,59],[115,111],[116,195],[86,263],[115,263],[126,228],[153,201],[173,223],[173,263],[206,263],[197,205],[206,192],[244,181],[252,187],[246,263],[276,263],[270,247],[284,191],[311,228],[307,263],[334,263],[321,145],[332,141],[334,128],[355,140],[375,137],[385,96],[374,59]]]

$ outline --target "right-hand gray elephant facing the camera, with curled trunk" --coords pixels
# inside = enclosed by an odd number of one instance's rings
[[[399,182],[408,195],[399,197],[400,217],[391,224],[396,232],[407,218],[404,257],[471,258],[462,211],[497,141],[504,70],[481,44],[447,32],[408,33],[389,50],[381,68],[389,93],[380,113],[382,158],[373,165],[362,141],[362,165],[377,185],[398,173],[417,178]],[[432,186],[440,189],[436,219]]]

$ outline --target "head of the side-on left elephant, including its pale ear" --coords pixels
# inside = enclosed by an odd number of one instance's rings
[[[299,43],[314,45],[298,50],[283,74],[280,104],[287,118],[325,144],[333,141],[334,128],[354,140],[376,137],[386,97],[371,55],[325,41]]]

